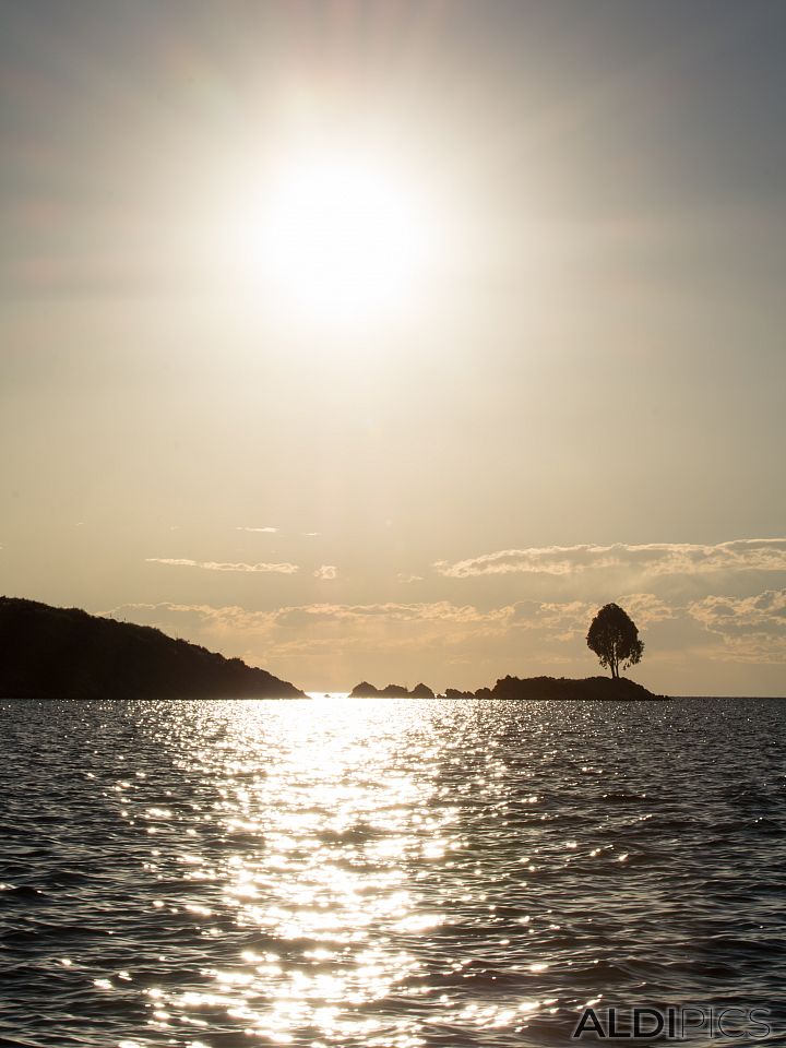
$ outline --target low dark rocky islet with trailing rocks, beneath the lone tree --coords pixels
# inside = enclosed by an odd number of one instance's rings
[[[412,691],[400,684],[388,684],[378,689],[364,681],[353,688],[350,699],[434,699],[434,692],[426,684],[418,684]],[[477,691],[458,691],[448,688],[445,699],[570,699],[570,700],[664,700],[666,695],[656,695],[643,684],[626,677],[502,677],[493,688],[479,688]]]

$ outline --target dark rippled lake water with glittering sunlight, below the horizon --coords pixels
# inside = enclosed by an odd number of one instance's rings
[[[0,743],[1,1046],[786,1044],[786,703],[2,702]]]

